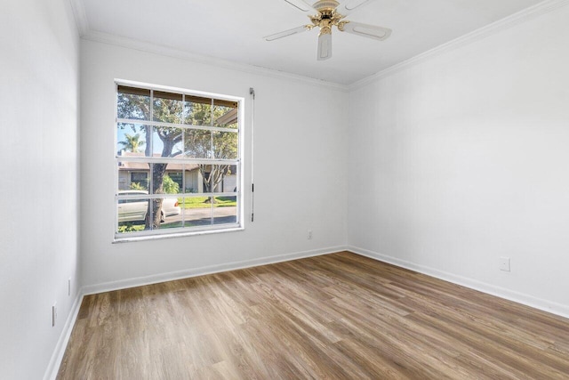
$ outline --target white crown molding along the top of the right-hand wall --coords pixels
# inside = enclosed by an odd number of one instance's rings
[[[556,11],[557,9],[564,7],[567,4],[569,4],[569,0],[546,0],[540,4],[535,4],[523,11],[514,13],[504,19],[486,25],[483,28],[478,28],[469,34],[455,38],[445,44],[438,45],[437,47],[425,53],[415,55],[413,58],[397,63],[388,69],[383,69],[370,77],[365,77],[364,79],[358,80],[357,82],[348,85],[349,91],[351,92],[357,90],[358,88],[364,87],[365,85],[370,85],[383,77],[389,77],[399,71],[421,64],[422,62],[428,61],[437,55],[451,52],[455,49],[461,48],[462,46],[475,43],[487,36],[493,36],[503,30],[513,28],[528,20],[533,20],[543,14]]]

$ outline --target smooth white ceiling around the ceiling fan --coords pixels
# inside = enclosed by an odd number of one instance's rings
[[[308,0],[310,3],[310,0]],[[333,30],[333,57],[317,61],[317,29],[284,0],[76,0],[84,35],[106,34],[185,53],[349,85],[541,0],[375,0],[347,20],[393,29],[380,42]]]

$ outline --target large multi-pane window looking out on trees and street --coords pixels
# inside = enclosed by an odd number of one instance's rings
[[[116,84],[116,239],[242,226],[241,99]]]

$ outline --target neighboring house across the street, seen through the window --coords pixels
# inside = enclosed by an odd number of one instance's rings
[[[124,157],[144,157],[142,152],[122,152]],[[159,155],[156,155],[159,157]],[[118,164],[118,190],[131,189],[132,183],[139,183],[146,187],[150,176],[148,164],[145,162],[124,161]],[[180,192],[185,188],[186,192],[204,192],[204,177],[199,171],[199,166],[182,164],[170,164],[166,166],[166,174],[178,183]],[[225,176],[218,184],[215,192],[233,191],[236,189],[236,172],[231,168],[231,174]]]

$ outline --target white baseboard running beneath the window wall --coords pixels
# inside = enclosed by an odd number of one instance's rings
[[[221,271],[234,271],[237,269],[251,268],[260,265],[267,265],[271,263],[281,263],[291,260],[297,260],[305,257],[312,257],[318,255],[327,255],[334,252],[346,250],[345,246],[327,247],[322,249],[315,249],[311,251],[297,252],[293,254],[275,255],[268,257],[261,257],[253,260],[244,260],[241,262],[222,263],[217,265],[209,265],[201,268],[192,268],[183,271],[172,271],[168,273],[153,274],[150,276],[137,277],[133,279],[121,279],[117,281],[110,281],[96,285],[83,287],[84,295],[92,295],[102,292],[109,292],[118,289],[125,289],[128,287],[141,287],[149,284],[156,284],[164,281],[172,281],[174,279],[188,279],[190,277],[203,276],[205,274],[219,273]]]

